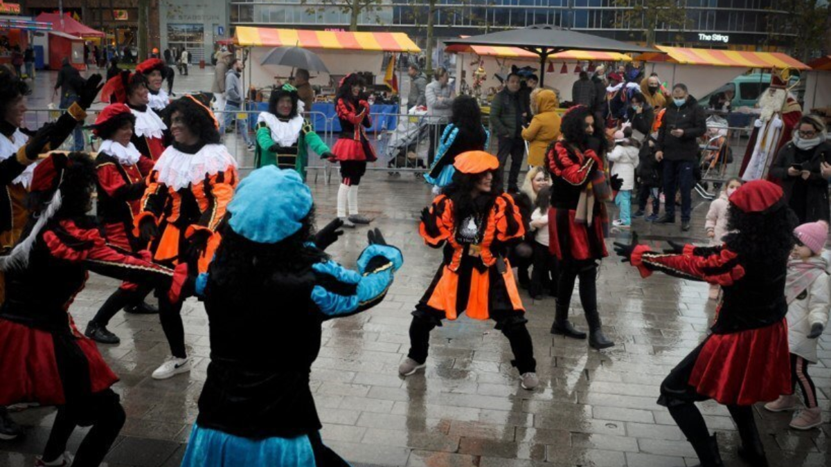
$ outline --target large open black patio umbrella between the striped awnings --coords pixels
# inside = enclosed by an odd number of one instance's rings
[[[452,46],[517,47],[539,56],[540,69],[545,69],[548,56],[568,50],[605,52],[661,52],[652,47],[642,47],[628,42],[593,36],[555,26],[529,26],[508,31],[491,32],[445,41]],[[543,86],[545,73],[540,73],[539,86]]]

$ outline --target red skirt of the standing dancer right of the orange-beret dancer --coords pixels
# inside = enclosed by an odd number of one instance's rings
[[[548,249],[560,261],[606,258],[603,224],[600,215],[594,216],[591,227],[574,221],[577,213],[571,209],[548,208]]]

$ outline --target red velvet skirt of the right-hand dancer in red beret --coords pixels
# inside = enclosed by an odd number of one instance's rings
[[[788,324],[732,334],[712,334],[703,343],[690,386],[720,404],[750,406],[789,394]]]

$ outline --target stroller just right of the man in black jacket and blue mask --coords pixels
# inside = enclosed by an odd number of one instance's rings
[[[718,197],[721,181],[714,181],[712,190],[707,180],[724,179],[727,165],[733,161],[733,151],[730,149],[730,130],[727,120],[712,115],[706,121],[707,132],[701,137],[701,159],[699,170],[701,179],[696,183],[696,193],[701,198],[713,200]]]

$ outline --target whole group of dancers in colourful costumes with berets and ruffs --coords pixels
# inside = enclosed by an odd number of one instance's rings
[[[155,291],[171,356],[152,376],[187,372],[180,311],[186,297],[199,296],[209,317],[211,361],[183,465],[347,465],[322,443],[309,387],[322,322],[381,302],[403,263],[378,229],[367,234],[356,269],[325,252],[343,226],[370,222],[357,205],[366,162],[375,159],[360,78],[341,83],[337,111],[344,130],[331,151],[300,116],[297,91],[275,91],[258,119],[261,168],[240,180],[208,101],[184,96],[163,108],[150,105],[160,66],[151,59],[107,82],[102,98],[110,105],[92,127],[103,141],[96,160],[51,150],[85,119],[101,76],[91,76],[57,122],[28,132],[22,128],[27,86],[0,70],[0,174],[9,197],[0,213],[6,250],[0,257],[0,406],[58,407],[36,465],[99,465],[125,412],[112,390],[118,376],[95,341],[119,341],[107,324],[120,309],[155,312],[144,302]],[[568,321],[579,279],[590,345],[614,345],[602,332],[596,278],[607,256],[609,185],[620,185],[605,178],[607,141],[584,106],[563,116],[562,139],[545,151],[551,186],[536,171],[528,199],[516,200],[502,191],[499,160],[485,152],[489,134],[476,102],[459,97],[453,114],[430,171],[440,194],[419,225],[425,243],[444,248],[444,256],[412,312],[411,347],[399,372],[411,376],[424,367],[430,331],[466,313],[496,322],[510,342],[520,385],[533,390],[539,382],[534,348],[511,258],[522,256],[521,243],[535,229],[557,259],[548,272],[558,295],[552,332],[587,337]],[[338,219],[319,231],[304,183],[308,149],[341,164]],[[88,216],[93,190],[100,224]],[[696,401],[728,406],[740,430],[740,455],[767,465],[751,406],[793,391],[784,321],[793,215],[782,190],[766,181],[741,186],[729,202],[733,233],[720,246],[671,245],[656,253],[635,234],[632,243],[616,243],[644,277],[660,271],[724,290],[711,335],[667,376],[659,401],[707,467],[722,464]],[[536,213],[532,222],[524,215],[529,210]],[[814,237],[800,238],[814,247]],[[69,308],[89,271],[124,283],[81,333]],[[13,422],[3,411],[0,423]],[[66,442],[76,425],[92,428],[73,460]]]

